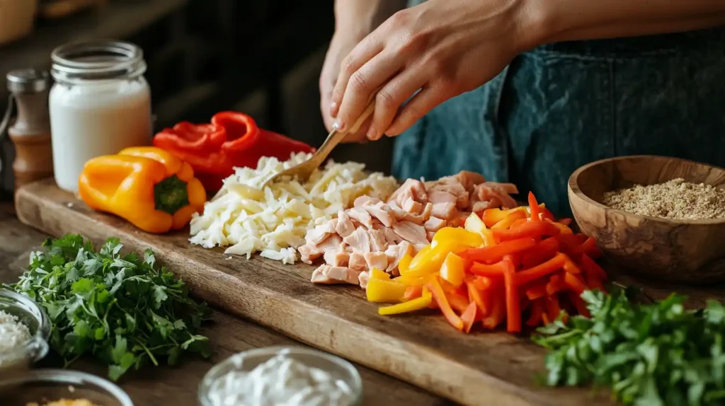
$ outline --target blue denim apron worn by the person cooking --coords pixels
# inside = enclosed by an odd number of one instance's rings
[[[422,2],[418,0],[418,2]],[[676,156],[725,167],[725,29],[554,43],[399,135],[393,173],[467,169],[533,191],[559,216],[568,177],[612,156]]]

